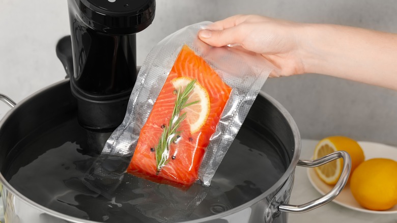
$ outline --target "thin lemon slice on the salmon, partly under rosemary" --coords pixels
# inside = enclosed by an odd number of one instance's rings
[[[177,77],[171,80],[171,82],[176,90],[179,88],[184,90],[192,80],[189,77]],[[210,96],[207,90],[197,82],[194,83],[194,88],[186,103],[188,104],[194,101],[198,101],[198,103],[183,108],[183,112],[186,112],[185,119],[190,125],[191,133],[198,131],[205,124],[210,114]]]

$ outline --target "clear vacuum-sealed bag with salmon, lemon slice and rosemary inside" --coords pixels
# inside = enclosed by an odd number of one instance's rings
[[[242,47],[199,40],[208,24],[186,26],[149,53],[123,123],[86,177],[91,186],[109,192],[126,175],[185,189],[210,185],[274,69]]]

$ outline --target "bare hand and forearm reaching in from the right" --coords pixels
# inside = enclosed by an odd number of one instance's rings
[[[397,90],[397,34],[236,15],[210,24],[198,37],[260,53],[279,76],[319,73]]]

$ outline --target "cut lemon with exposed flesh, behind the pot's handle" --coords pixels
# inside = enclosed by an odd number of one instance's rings
[[[314,158],[318,159],[332,152],[341,150],[349,153],[352,160],[352,168],[350,173],[353,173],[354,169],[356,169],[357,166],[364,161],[364,152],[362,151],[360,145],[349,137],[330,136],[323,138],[323,140],[321,140],[315,148]],[[315,168],[315,170],[322,181],[324,181],[326,184],[334,185],[338,181],[339,176],[341,176],[342,166],[343,160],[337,159],[318,166]]]

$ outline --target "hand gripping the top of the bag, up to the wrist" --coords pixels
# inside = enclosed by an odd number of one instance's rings
[[[302,26],[258,15],[236,15],[210,24],[198,37],[212,46],[240,44],[262,54],[279,69],[280,76],[290,76],[305,72],[297,38]]]

